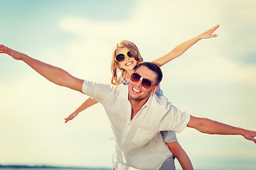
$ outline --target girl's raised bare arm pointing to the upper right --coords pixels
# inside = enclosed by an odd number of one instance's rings
[[[183,52],[186,52],[188,48],[190,48],[192,45],[196,44],[199,40],[207,39],[207,38],[213,38],[217,37],[217,34],[213,34],[213,32],[219,27],[220,25],[217,25],[213,28],[210,28],[209,30],[206,30],[205,32],[201,33],[200,35],[197,35],[195,38],[192,38],[190,40],[187,40],[185,42],[182,42],[180,45],[174,47],[171,52],[167,53],[163,57],[160,57],[156,60],[153,60],[152,62],[159,67],[163,66],[167,62],[174,60],[176,57],[183,54]]]

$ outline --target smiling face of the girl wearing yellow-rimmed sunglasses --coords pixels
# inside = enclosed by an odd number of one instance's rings
[[[134,60],[134,57],[127,57],[127,52],[129,50],[126,47],[122,47],[116,50],[116,54],[124,54],[124,61],[119,62],[118,66],[125,70],[132,70],[137,65],[137,61]]]

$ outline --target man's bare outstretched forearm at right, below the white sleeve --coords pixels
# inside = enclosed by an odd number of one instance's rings
[[[252,140],[256,143],[256,131],[237,128],[207,118],[196,118],[191,115],[187,126],[207,134],[242,135],[246,140]]]

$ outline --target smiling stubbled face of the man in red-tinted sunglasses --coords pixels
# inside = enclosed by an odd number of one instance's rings
[[[151,69],[148,69],[145,66],[139,67],[136,70],[136,73],[141,75],[142,77],[149,79],[151,83],[154,85],[156,84],[157,74],[153,72]],[[139,80],[137,82],[129,81],[129,100],[131,101],[147,101],[151,94],[154,94],[157,90],[157,86],[151,86],[149,89],[145,89],[142,86],[142,81]]]

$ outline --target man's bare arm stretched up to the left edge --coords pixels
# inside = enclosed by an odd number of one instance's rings
[[[25,62],[26,64],[28,64],[28,66],[30,66],[32,69],[34,69],[36,72],[38,72],[54,84],[66,86],[75,91],[82,92],[83,80],[73,77],[63,69],[33,59],[28,55],[25,55],[4,45],[0,45],[0,53],[6,53],[7,55],[13,57],[15,60],[21,60]]]

